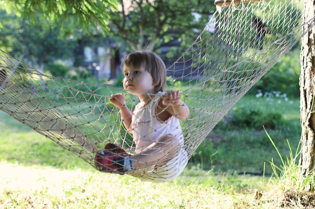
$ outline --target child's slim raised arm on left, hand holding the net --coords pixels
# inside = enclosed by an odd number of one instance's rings
[[[120,115],[122,121],[127,129],[128,132],[132,133],[131,128],[131,119],[132,119],[132,112],[128,109],[125,102],[125,95],[124,94],[112,94],[112,97],[109,101],[120,109]]]

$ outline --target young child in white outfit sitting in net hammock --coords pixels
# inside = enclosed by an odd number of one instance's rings
[[[186,120],[189,108],[179,90],[163,92],[166,67],[152,52],[138,51],[123,62],[123,87],[140,102],[131,112],[124,94],[114,94],[110,102],[120,109],[124,126],[133,135],[135,154],[109,143],[95,158],[103,172],[146,173],[152,178],[172,180],[185,168],[188,158],[179,120]]]

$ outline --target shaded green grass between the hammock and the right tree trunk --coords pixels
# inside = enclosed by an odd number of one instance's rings
[[[259,108],[264,113],[280,113],[283,119],[275,129],[267,129],[282,157],[289,155],[287,140],[293,149],[298,147],[301,127],[299,116],[299,100],[284,98],[256,98],[244,96],[233,111],[241,108]],[[259,116],[263,117],[263,116]],[[203,164],[200,163],[201,156]],[[263,124],[258,128],[239,128],[228,123],[219,123],[195,152],[192,162],[202,168],[217,173],[261,172],[272,174],[270,161],[281,165],[281,160],[270,142]],[[264,162],[266,166],[264,167]]]

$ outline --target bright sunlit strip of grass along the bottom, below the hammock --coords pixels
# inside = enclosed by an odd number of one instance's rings
[[[0,163],[0,202],[5,208],[257,208],[261,177],[191,176],[168,183],[94,170],[58,170]],[[260,185],[258,185],[260,184]],[[264,200],[266,201],[266,200]],[[265,205],[270,205],[266,201]]]

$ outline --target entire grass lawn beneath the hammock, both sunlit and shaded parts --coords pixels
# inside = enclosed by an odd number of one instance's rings
[[[289,155],[286,139],[293,150],[299,141],[298,99],[246,96],[234,108],[252,105],[274,108],[289,121],[267,130]],[[269,175],[269,161],[280,159],[263,129],[213,130],[204,142],[211,159],[191,161],[174,181],[156,184],[98,172],[5,113],[0,117],[0,208],[304,208],[286,202],[288,185]]]

